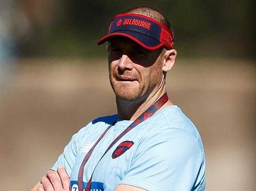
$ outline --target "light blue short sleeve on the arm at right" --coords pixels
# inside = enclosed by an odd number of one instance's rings
[[[200,190],[203,158],[200,143],[191,133],[166,129],[141,141],[120,184],[149,191]]]

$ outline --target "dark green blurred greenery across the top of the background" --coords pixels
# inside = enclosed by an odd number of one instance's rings
[[[111,18],[126,9],[148,5],[169,18],[174,48],[181,57],[255,58],[255,11],[252,0],[65,0],[47,24],[20,46],[24,56],[100,57],[96,42],[108,32]],[[58,14],[58,15],[57,15]],[[35,43],[36,42],[36,43]]]

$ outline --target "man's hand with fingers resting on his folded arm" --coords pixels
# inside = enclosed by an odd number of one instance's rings
[[[69,176],[62,166],[56,171],[48,171],[46,176],[41,178],[41,184],[37,191],[70,191]]]

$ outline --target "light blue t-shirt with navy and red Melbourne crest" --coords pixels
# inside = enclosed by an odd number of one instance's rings
[[[52,167],[65,167],[71,191],[78,191],[83,158],[117,115],[97,118],[74,134]],[[205,156],[194,124],[177,106],[168,106],[124,135],[100,160],[113,140],[133,121],[117,120],[84,167],[84,189],[113,191],[128,184],[149,191],[204,191]],[[100,160],[100,161],[99,161]]]

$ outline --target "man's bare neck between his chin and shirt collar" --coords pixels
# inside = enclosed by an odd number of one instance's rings
[[[152,91],[148,93],[148,95],[145,95],[143,98],[134,101],[121,100],[116,97],[118,118],[123,120],[137,119],[144,111],[146,111],[146,109],[152,106],[154,102],[163,96],[164,93],[165,87],[156,93]],[[168,100],[158,111],[171,105],[173,105],[172,102]]]

